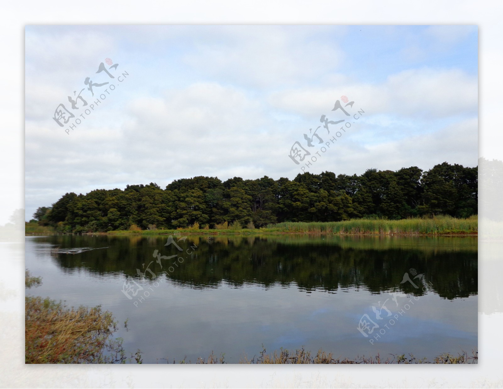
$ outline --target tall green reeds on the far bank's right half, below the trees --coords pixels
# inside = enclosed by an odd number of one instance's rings
[[[266,230],[282,232],[317,232],[341,234],[476,234],[478,218],[458,219],[452,216],[410,218],[402,220],[352,219],[334,222],[283,222],[268,224]]]

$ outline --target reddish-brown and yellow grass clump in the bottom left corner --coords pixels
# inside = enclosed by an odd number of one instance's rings
[[[40,278],[25,273],[26,287]],[[117,323],[112,313],[94,308],[67,308],[48,298],[25,299],[25,363],[141,363],[138,350],[125,356],[122,338],[114,339]]]

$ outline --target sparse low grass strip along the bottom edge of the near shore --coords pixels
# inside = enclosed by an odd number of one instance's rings
[[[165,359],[165,358],[164,358]],[[187,358],[179,361],[179,363],[191,363],[191,361],[187,362]],[[166,359],[165,359],[166,360]],[[173,363],[176,363],[175,360]],[[219,357],[213,354],[213,351],[209,355],[207,359],[198,358],[196,363],[207,363],[207,364],[217,364],[217,363],[226,363],[224,360],[224,354],[221,354]],[[478,363],[478,352],[473,350],[472,356],[469,356],[465,351],[462,351],[461,354],[457,356],[451,355],[449,353],[444,353],[439,356],[436,356],[432,361],[427,358],[418,359],[412,354],[405,356],[405,354],[401,355],[391,355],[388,358],[381,358],[379,354],[375,357],[365,357],[359,356],[355,359],[348,359],[341,357],[334,358],[332,353],[326,353],[321,349],[318,350],[316,355],[311,355],[310,351],[304,350],[301,348],[299,350],[295,350],[294,353],[289,352],[285,349],[280,349],[280,351],[274,351],[273,354],[267,354],[266,349],[264,348],[260,352],[260,356],[253,357],[252,359],[248,359],[244,357],[239,361],[239,363],[244,364],[418,364],[418,363],[433,363],[433,364],[466,364],[466,363]]]

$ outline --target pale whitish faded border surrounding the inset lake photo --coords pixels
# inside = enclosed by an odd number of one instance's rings
[[[24,207],[24,29],[27,24],[474,24],[479,27],[479,156],[501,151],[501,2],[17,2],[0,6],[0,212]],[[482,194],[481,194],[482,196]],[[497,206],[498,204],[494,204]],[[490,209],[484,210],[490,212]],[[24,365],[23,237],[0,244],[3,387],[502,387],[498,242],[480,212],[479,354],[473,366]],[[501,226],[491,224],[492,235]],[[148,318],[145,318],[148,320]]]

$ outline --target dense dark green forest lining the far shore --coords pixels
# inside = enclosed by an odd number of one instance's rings
[[[477,214],[477,167],[447,162],[422,171],[415,166],[360,176],[303,173],[290,181],[216,177],[66,193],[52,207],[39,207],[32,221],[65,232],[97,232],[234,223],[262,227],[282,221],[340,221],[351,218],[402,219]]]

